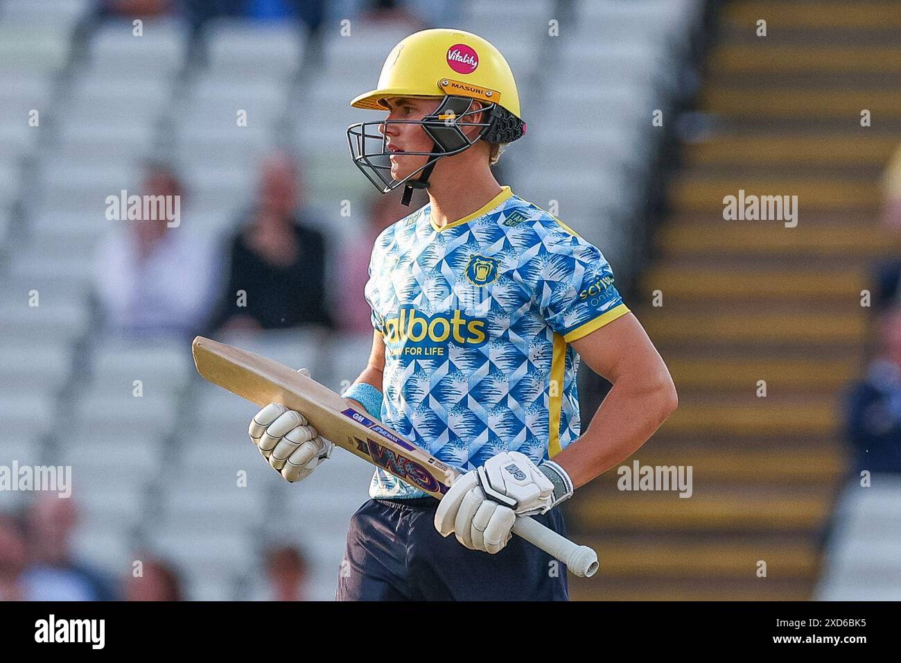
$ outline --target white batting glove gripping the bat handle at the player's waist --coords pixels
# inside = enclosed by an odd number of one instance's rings
[[[435,529],[467,548],[495,554],[513,536],[517,516],[543,513],[555,503],[554,485],[528,456],[503,451],[462,474],[441,498]]]

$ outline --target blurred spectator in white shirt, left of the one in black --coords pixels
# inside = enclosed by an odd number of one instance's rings
[[[181,183],[165,165],[150,165],[144,193],[177,196],[180,210]],[[171,227],[167,219],[114,223],[121,227],[100,245],[94,271],[105,327],[133,336],[194,336],[215,305],[219,246],[180,219]]]

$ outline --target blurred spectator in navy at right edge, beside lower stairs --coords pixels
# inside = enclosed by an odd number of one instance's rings
[[[901,473],[901,306],[878,315],[878,351],[851,389],[848,437],[857,472]]]

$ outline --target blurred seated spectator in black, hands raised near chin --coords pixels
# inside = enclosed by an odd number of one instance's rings
[[[216,327],[332,327],[325,302],[325,239],[307,223],[302,202],[296,163],[284,153],[268,157],[257,203],[232,240]],[[240,291],[246,293],[241,300]]]

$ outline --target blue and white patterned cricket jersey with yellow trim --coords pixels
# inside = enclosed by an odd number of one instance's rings
[[[430,205],[378,235],[366,299],[384,338],[381,419],[448,465],[539,463],[580,433],[569,345],[629,312],[596,246],[509,187],[440,229]],[[377,469],[370,497],[425,493]]]

